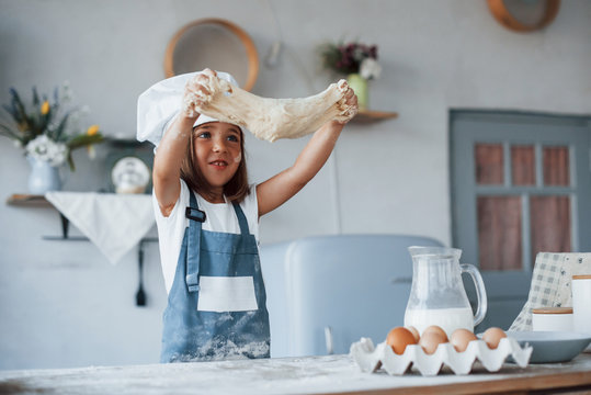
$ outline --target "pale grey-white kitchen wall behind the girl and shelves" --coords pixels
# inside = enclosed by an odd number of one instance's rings
[[[253,92],[305,97],[332,77],[315,48],[360,38],[379,46],[384,72],[371,108],[395,121],[348,125],[328,166],[261,222],[262,242],[334,233],[402,233],[451,242],[447,114],[451,108],[591,113],[591,2],[566,0],[546,30],[501,27],[485,1],[271,1],[284,52],[261,67]],[[268,1],[0,1],[0,102],[9,87],[50,91],[69,80],[89,121],[113,136],[135,135],[138,94],[163,78],[168,41],[185,23],[228,19],[262,57],[277,40]],[[270,145],[247,138],[251,181],[289,166],[306,139]],[[77,153],[66,190],[104,187]],[[26,191],[29,167],[0,139],[0,198]],[[49,208],[0,205],[0,369],[148,363],[158,360],[166,292],[148,247],[149,305],[134,306],[136,257],[111,267],[88,242],[42,240],[59,232]]]

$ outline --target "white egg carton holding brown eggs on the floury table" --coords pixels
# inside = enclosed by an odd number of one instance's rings
[[[391,347],[382,342],[374,347],[372,339],[361,338],[351,345],[349,356],[364,372],[376,372],[383,368],[388,374],[402,375],[414,366],[423,376],[437,375],[443,365],[450,366],[455,374],[468,374],[476,360],[489,372],[501,369],[504,360],[511,357],[521,368],[527,366],[533,348],[523,349],[512,338],[502,338],[499,346],[491,350],[484,340],[473,340],[463,352],[457,352],[450,343],[441,343],[432,354],[427,354],[419,345],[407,346],[405,353],[396,354]]]

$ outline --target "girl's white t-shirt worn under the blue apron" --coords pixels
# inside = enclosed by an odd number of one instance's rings
[[[189,187],[181,181],[181,194],[174,203],[174,208],[168,217],[163,216],[158,205],[156,194],[152,193],[154,213],[156,225],[158,226],[158,238],[160,245],[160,263],[162,264],[162,274],[164,275],[164,285],[167,293],[170,293],[174,273],[177,272],[177,262],[181,253],[184,229],[189,226],[189,218],[185,217],[185,208],[189,206]],[[251,235],[254,235],[257,245],[259,244],[259,204],[257,202],[257,185],[250,185],[250,193],[240,203],[240,208],[245,213],[248,222],[248,228]],[[193,192],[195,193],[195,192]],[[202,224],[203,230],[223,232],[240,234],[238,217],[230,202],[209,203],[198,193],[195,193],[200,210],[205,212],[206,218]],[[224,198],[225,199],[225,198]]]

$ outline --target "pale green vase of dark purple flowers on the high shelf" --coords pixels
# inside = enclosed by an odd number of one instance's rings
[[[357,97],[360,110],[367,110],[367,81],[382,74],[377,63],[377,46],[362,43],[325,44],[320,52],[323,67],[346,76],[346,82]]]

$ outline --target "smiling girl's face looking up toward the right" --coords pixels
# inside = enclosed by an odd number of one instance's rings
[[[226,122],[209,122],[193,129],[196,163],[209,183],[221,192],[242,160],[240,128]]]

